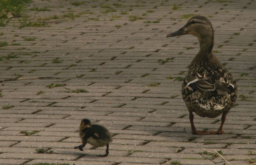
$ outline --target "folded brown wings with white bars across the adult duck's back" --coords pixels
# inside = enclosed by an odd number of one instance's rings
[[[184,87],[189,86],[194,92],[202,92],[202,97],[228,95],[235,90],[232,75],[224,68],[200,68],[192,70],[184,80]]]

